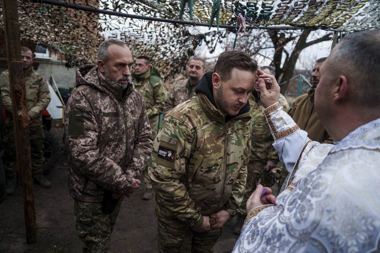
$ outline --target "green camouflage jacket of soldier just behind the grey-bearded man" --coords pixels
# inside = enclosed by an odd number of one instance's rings
[[[158,120],[160,114],[163,113],[163,106],[168,98],[165,84],[154,66],[151,66],[150,71],[142,75],[132,74],[132,78],[135,89],[140,92],[145,100],[150,128],[152,128],[153,136],[155,137],[158,130]]]

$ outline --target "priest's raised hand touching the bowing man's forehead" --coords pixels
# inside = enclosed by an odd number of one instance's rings
[[[256,85],[259,85],[260,87],[260,101],[264,108],[267,108],[279,101],[280,86],[277,84],[274,76],[265,74],[261,70],[257,70],[257,74],[259,79],[257,80]],[[271,78],[272,82],[266,83],[263,78]]]

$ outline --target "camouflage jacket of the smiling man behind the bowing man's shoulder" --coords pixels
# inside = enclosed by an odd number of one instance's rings
[[[170,92],[168,100],[166,100],[164,105],[164,115],[168,114],[174,107],[179,105],[186,100],[189,100],[195,96],[195,87],[198,83],[190,86],[189,79],[179,80],[176,84],[173,85],[173,89]]]

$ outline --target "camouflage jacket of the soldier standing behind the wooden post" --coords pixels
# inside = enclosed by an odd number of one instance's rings
[[[42,112],[46,109],[50,103],[49,86],[45,77],[33,70],[25,71],[25,89],[26,89],[26,101],[28,114],[32,117],[33,121],[29,126],[41,126],[42,127]],[[0,75],[0,86],[3,99],[3,108],[6,114],[6,125],[12,125],[12,100],[11,92],[9,88],[9,73],[8,70],[4,71]],[[13,126],[13,125],[12,125]]]

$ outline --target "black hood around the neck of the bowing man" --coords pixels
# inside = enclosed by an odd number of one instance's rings
[[[201,81],[198,85],[196,85],[195,93],[198,95],[198,93],[203,93],[206,95],[207,99],[210,101],[210,103],[215,106],[216,109],[218,109],[215,100],[214,100],[214,93],[212,88],[212,74],[214,74],[214,71],[207,72],[203,75]],[[247,103],[243,106],[243,108],[239,111],[239,114],[236,116],[226,116],[225,122],[228,122],[229,120],[233,119],[234,117],[237,117],[241,114],[244,114],[246,112],[249,112],[251,109],[251,106],[249,104],[249,101],[247,100]]]

